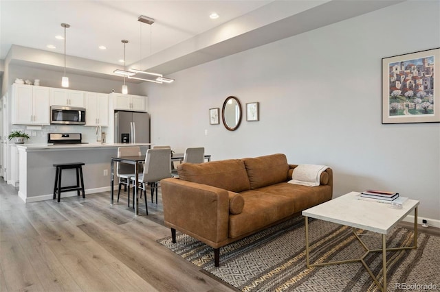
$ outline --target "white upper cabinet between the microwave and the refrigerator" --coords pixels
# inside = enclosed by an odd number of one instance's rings
[[[85,125],[109,125],[109,95],[85,93]]]

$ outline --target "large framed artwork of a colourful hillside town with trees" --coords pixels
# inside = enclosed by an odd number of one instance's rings
[[[382,123],[440,122],[440,48],[382,58]]]

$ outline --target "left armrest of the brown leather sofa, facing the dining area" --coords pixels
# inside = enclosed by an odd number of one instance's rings
[[[228,191],[177,178],[161,180],[160,184],[166,226],[214,248],[228,239]]]

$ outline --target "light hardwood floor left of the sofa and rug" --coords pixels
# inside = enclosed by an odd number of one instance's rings
[[[24,204],[0,178],[0,291],[234,291],[156,242],[160,193],[148,217],[122,194]]]

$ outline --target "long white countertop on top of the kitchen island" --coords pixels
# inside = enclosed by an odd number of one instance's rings
[[[151,146],[151,143],[87,143],[87,144],[17,144],[17,149],[21,151],[51,151],[51,150],[82,150],[94,148],[117,148],[127,146]]]

